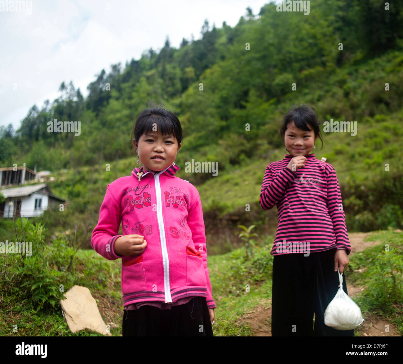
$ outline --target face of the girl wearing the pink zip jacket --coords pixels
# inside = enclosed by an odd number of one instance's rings
[[[174,136],[162,135],[156,131],[141,135],[137,143],[133,139],[133,145],[143,163],[143,170],[154,173],[168,168],[175,161],[181,147]]]

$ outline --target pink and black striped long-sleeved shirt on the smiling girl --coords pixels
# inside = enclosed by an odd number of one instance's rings
[[[287,168],[293,158],[289,154],[266,168],[260,206],[268,210],[277,205],[278,211],[271,254],[295,252],[278,250],[280,244],[285,246],[285,243],[291,243],[289,246],[307,243],[309,252],[337,248],[345,249],[349,254],[351,245],[336,171],[329,163],[316,159],[314,154],[305,157],[305,167],[295,172]]]

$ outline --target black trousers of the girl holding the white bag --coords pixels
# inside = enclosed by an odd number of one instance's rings
[[[354,336],[354,330],[336,330],[324,323],[324,312],[340,284],[334,271],[336,251],[274,256],[272,336]],[[347,293],[344,273],[343,290]]]

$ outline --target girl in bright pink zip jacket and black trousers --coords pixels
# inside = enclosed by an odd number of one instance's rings
[[[99,254],[122,260],[123,336],[212,336],[202,204],[195,186],[175,177],[181,124],[146,109],[133,136],[143,167],[108,185],[91,237]]]

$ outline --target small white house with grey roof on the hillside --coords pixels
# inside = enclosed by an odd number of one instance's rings
[[[3,212],[3,217],[13,217],[14,213],[16,217],[38,216],[42,215],[48,206],[65,202],[55,196],[46,183],[4,188],[0,192],[5,197],[4,203],[0,204],[0,212]]]

